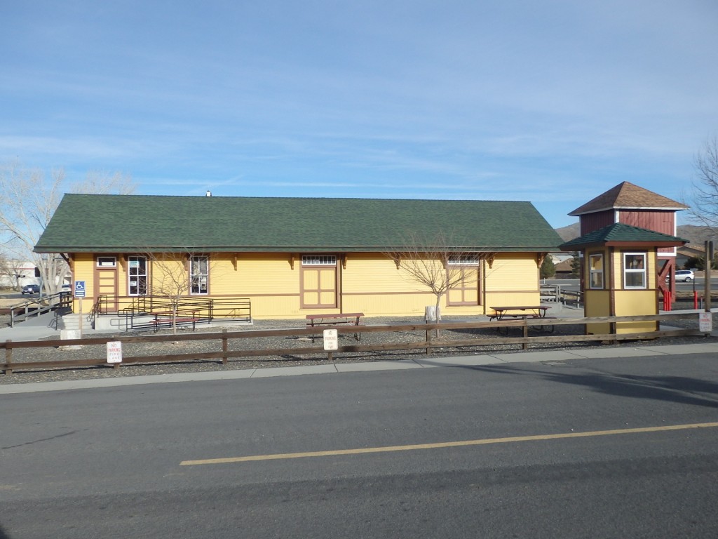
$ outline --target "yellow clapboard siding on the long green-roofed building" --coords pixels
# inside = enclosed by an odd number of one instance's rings
[[[126,295],[127,275],[120,258],[128,256],[117,255],[118,264],[113,272],[118,295],[121,296]],[[187,271],[176,259],[167,258],[164,262],[150,264],[150,280],[157,280],[162,264],[174,267],[180,273]],[[74,259],[73,277],[85,280],[88,290],[94,290],[95,275],[99,273],[95,272],[95,256],[75,254]],[[465,301],[472,305],[447,306],[447,298],[442,298],[444,315],[482,314],[487,305],[538,303],[535,254],[498,254],[493,268],[485,262],[481,264],[480,287],[477,283],[476,287],[450,292],[452,301]],[[337,272],[337,276],[332,272]],[[252,315],[256,318],[304,318],[305,314],[312,312],[312,309],[301,308],[303,274],[301,257],[296,254],[211,254],[209,273],[210,294],[207,297],[250,298]],[[341,309],[344,312],[363,312],[368,316],[423,315],[426,305],[436,303],[436,298],[425,285],[413,280],[401,268],[397,269],[393,260],[381,253],[350,253],[345,257],[345,264],[340,262],[336,269],[322,268],[314,274],[305,271],[303,277],[304,303],[336,303],[335,312]],[[340,283],[338,290],[334,284],[337,281]],[[314,290],[307,290],[307,287],[314,287]],[[481,296],[477,292],[479,288],[482,289]]]

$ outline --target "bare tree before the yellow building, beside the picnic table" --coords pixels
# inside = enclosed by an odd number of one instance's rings
[[[493,257],[493,253],[457,247],[442,232],[431,238],[411,235],[403,246],[385,254],[409,280],[431,290],[436,298],[437,322],[441,321],[442,298],[449,290],[477,284],[479,272],[467,272],[467,266],[477,266],[480,260]]]

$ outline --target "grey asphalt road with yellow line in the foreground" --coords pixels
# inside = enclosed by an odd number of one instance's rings
[[[718,537],[707,354],[0,395],[0,409],[1,539]]]

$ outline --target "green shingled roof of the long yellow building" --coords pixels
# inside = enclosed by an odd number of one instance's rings
[[[386,252],[437,231],[457,249],[556,251],[529,202],[65,195],[36,252]]]

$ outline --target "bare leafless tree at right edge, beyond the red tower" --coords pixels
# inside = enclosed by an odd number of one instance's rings
[[[718,137],[709,137],[694,159],[689,213],[713,231],[718,230]]]

